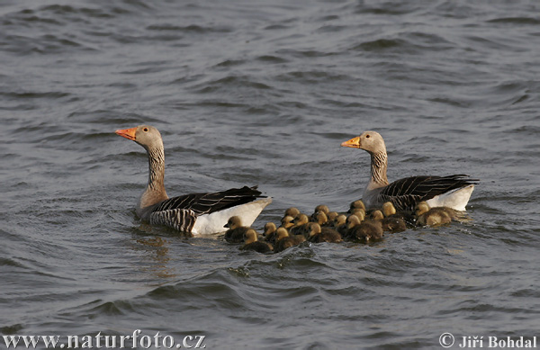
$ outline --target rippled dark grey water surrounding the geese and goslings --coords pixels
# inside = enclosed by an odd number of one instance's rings
[[[0,333],[312,349],[539,336],[539,10],[2,2]],[[339,144],[363,130],[386,139],[391,180],[482,183],[450,227],[241,253],[137,220],[146,155],[113,131],[143,122],[164,136],[170,195],[274,197],[257,229],[359,198],[368,156]]]

